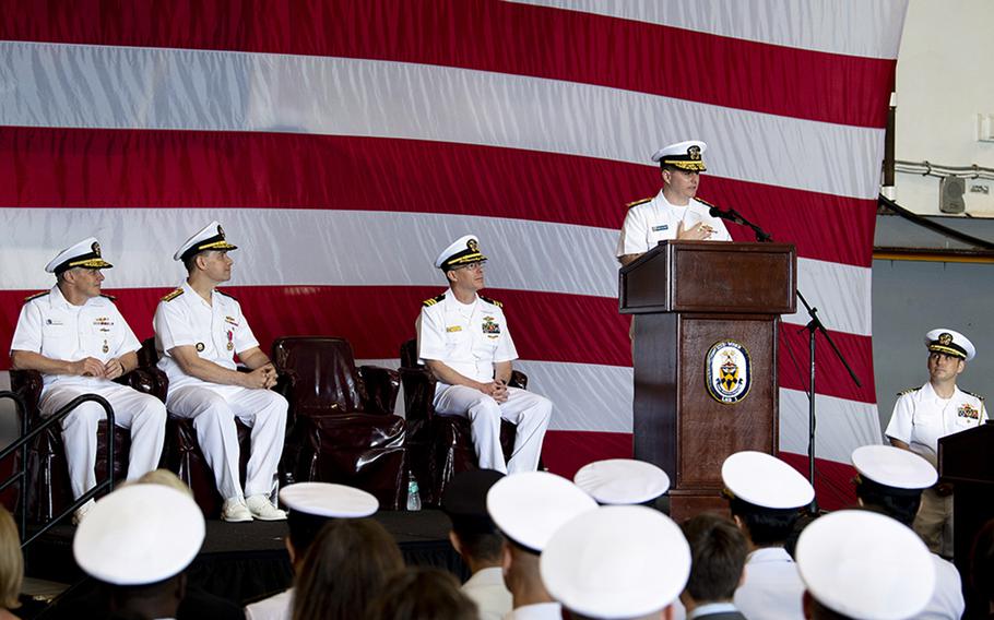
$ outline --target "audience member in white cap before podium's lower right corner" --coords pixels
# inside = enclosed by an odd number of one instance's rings
[[[803,618],[804,584],[783,546],[815,490],[796,469],[761,452],[737,452],[725,458],[721,479],[732,518],[749,544],[735,607],[746,618]]]

